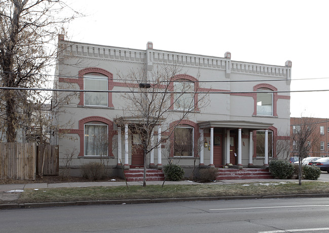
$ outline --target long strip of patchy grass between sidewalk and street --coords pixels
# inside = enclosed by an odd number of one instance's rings
[[[198,184],[198,185],[133,185],[83,188],[27,189],[20,195],[18,203],[93,201],[114,199],[243,196],[329,193],[329,182],[245,183],[245,184]]]

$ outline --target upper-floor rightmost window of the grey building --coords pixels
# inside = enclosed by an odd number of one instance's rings
[[[257,115],[273,116],[273,93],[268,88],[257,89]]]

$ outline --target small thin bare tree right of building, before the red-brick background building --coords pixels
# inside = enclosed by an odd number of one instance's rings
[[[306,158],[311,148],[318,143],[318,134],[316,134],[317,123],[313,118],[301,117],[294,118],[293,122],[293,151],[299,156],[299,185],[302,185],[302,160]]]

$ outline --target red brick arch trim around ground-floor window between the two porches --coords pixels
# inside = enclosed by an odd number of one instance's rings
[[[193,135],[193,138],[194,138],[194,145],[193,145],[193,150],[194,150],[194,156],[197,156],[197,149],[198,149],[198,141],[199,141],[199,138],[200,138],[200,132],[199,132],[199,125],[191,120],[181,120],[179,122],[179,120],[177,121],[174,121],[174,122],[171,122],[169,127],[170,127],[170,131],[174,130],[176,127],[179,127],[179,125],[188,125],[190,126],[191,128],[193,128],[194,130],[194,135]],[[170,157],[174,157],[174,134],[172,133],[170,135]],[[191,158],[193,158],[191,156]]]

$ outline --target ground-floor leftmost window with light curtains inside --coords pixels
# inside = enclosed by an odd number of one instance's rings
[[[92,122],[85,124],[85,155],[107,156],[108,129],[106,124]]]

